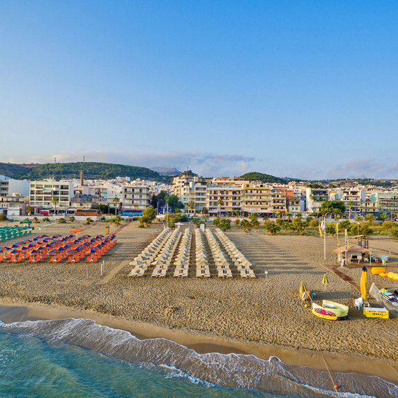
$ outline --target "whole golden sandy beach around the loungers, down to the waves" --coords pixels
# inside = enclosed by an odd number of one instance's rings
[[[95,224],[84,233],[105,233]],[[34,235],[59,233],[81,224],[55,224]],[[85,228],[86,226],[84,226]],[[111,232],[120,227],[111,226]],[[263,232],[227,235],[254,264],[255,280],[215,276],[208,280],[129,278],[129,261],[156,235],[156,229],[138,228],[133,222],[118,230],[118,244],[100,264],[0,263],[0,318],[6,322],[28,318],[92,318],[137,337],[165,337],[197,352],[242,352],[262,359],[278,356],[285,363],[325,370],[323,352],[334,370],[374,374],[398,383],[395,339],[398,319],[368,319],[354,308],[359,297],[352,285],[328,271],[336,264],[332,253],[336,239],[327,238],[327,261],[319,237],[271,236]],[[18,242],[12,239],[5,245]],[[398,253],[398,244],[387,237],[372,237],[370,248],[378,254]],[[391,254],[390,271],[398,270],[398,255]],[[87,276],[88,270],[88,276]],[[264,271],[268,271],[266,277]],[[326,291],[322,284],[327,273]],[[361,268],[344,269],[359,284]],[[378,287],[394,286],[369,273]],[[316,292],[316,300],[330,299],[350,305],[349,318],[332,322],[316,318],[298,298],[300,282]],[[395,286],[398,287],[397,282]],[[18,306],[26,305],[24,309]],[[17,306],[17,307],[15,307]],[[6,309],[4,309],[6,308]],[[16,309],[17,308],[17,309]],[[394,368],[392,368],[392,365]]]

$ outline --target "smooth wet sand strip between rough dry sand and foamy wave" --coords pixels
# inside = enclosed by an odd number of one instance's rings
[[[307,349],[298,350],[294,347],[271,345],[199,333],[188,329],[170,329],[151,323],[125,320],[115,316],[100,314],[96,311],[73,309],[60,305],[32,304],[21,301],[0,300],[0,319],[5,323],[24,320],[53,320],[64,318],[88,318],[98,325],[123,329],[140,340],[148,338],[166,338],[184,345],[199,354],[218,352],[220,354],[248,354],[268,361],[276,356],[287,365],[306,366],[326,372],[323,356],[332,371],[356,373],[366,376],[377,376],[398,385],[397,363],[392,367],[391,361],[371,358],[369,356],[349,354],[341,355],[334,352],[320,352]],[[370,371],[371,370],[371,371]]]

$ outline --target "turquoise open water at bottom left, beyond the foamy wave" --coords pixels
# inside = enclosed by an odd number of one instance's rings
[[[1,397],[271,397],[0,331]]]

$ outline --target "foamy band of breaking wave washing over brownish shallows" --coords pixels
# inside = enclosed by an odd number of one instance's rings
[[[338,391],[327,372],[268,361],[247,354],[198,354],[165,338],[139,340],[129,332],[96,324],[91,319],[35,320],[2,324],[2,329],[43,338],[51,344],[84,347],[124,361],[158,365],[172,377],[192,383],[221,384],[296,397],[397,397],[398,386],[379,377],[334,373]]]

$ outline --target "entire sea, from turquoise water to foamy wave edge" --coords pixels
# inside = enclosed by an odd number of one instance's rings
[[[334,383],[338,390],[334,390]],[[398,397],[379,377],[199,354],[90,319],[0,324],[0,397]]]

